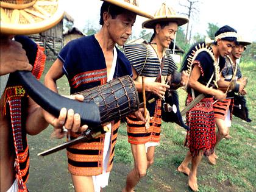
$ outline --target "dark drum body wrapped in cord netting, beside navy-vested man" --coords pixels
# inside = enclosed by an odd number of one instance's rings
[[[101,123],[119,120],[136,112],[140,104],[137,89],[130,76],[119,77],[79,94],[84,96],[85,102],[94,101],[98,105]]]

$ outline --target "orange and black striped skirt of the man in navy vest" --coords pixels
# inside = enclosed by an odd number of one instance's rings
[[[115,155],[115,144],[118,135],[120,121],[112,122],[110,157],[108,159],[107,172],[111,171]],[[71,140],[80,134],[71,132]],[[102,174],[103,149],[105,134],[91,140],[90,143],[78,143],[67,148],[68,170],[77,176],[98,176]]]

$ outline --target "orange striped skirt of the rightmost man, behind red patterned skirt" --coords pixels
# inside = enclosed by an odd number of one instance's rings
[[[234,99],[224,99],[224,101],[218,101],[213,105],[214,116],[218,119],[225,120],[228,109],[230,110],[230,119],[232,119],[232,109]]]

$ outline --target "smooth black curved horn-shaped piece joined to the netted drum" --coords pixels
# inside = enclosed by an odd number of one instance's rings
[[[72,108],[74,113],[79,113],[81,124],[96,127],[101,124],[101,116],[98,105],[94,101],[80,102],[65,98],[60,94],[46,88],[29,71],[16,71],[18,81],[23,85],[29,96],[46,112],[58,117],[60,110],[65,107]]]

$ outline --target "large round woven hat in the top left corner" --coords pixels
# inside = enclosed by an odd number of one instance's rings
[[[59,0],[1,0],[1,34],[43,32],[59,23],[63,13]]]

